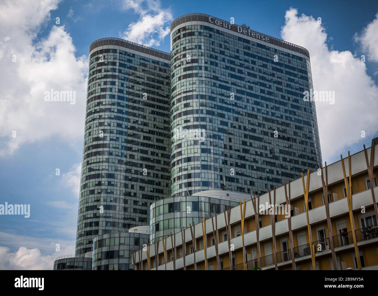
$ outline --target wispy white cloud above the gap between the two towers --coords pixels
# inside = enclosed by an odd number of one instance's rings
[[[159,46],[169,32],[172,14],[169,9],[161,8],[159,1],[124,0],[124,9],[133,9],[139,20],[132,22],[120,37],[146,46]]]

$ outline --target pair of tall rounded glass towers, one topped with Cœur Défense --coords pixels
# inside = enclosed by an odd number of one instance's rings
[[[185,205],[154,200],[191,200],[195,223],[227,204],[200,208],[203,191],[261,194],[322,161],[305,48],[199,13],[174,20],[170,42],[90,45],[76,256],[106,232],[186,227]]]

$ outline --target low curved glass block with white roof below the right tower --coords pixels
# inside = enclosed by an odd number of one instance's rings
[[[224,212],[239,205],[247,195],[231,191],[203,191],[198,195],[168,195],[160,197],[150,206],[150,242],[162,236],[179,232],[183,228],[200,223],[203,218]]]

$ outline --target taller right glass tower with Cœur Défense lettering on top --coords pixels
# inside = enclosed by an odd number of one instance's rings
[[[308,51],[239,27],[263,35],[205,14],[171,25],[174,195],[225,185],[262,194],[322,161],[315,103],[303,100]]]

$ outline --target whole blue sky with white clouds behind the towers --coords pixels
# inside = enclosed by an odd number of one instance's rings
[[[0,3],[4,11],[0,14],[0,204],[31,205],[28,219],[0,215],[0,269],[52,268],[54,257],[74,252],[91,42],[134,36],[139,39],[132,41],[169,52],[170,22],[182,14],[202,12],[225,20],[234,17],[237,24],[305,46],[314,88],[341,94],[336,97],[337,109],[317,105],[323,161],[332,163],[340,153],[358,152],[363,144],[369,147],[378,134],[377,8],[374,1]],[[139,26],[144,17],[150,22]],[[316,25],[318,17],[321,25]],[[10,61],[13,54],[16,63]],[[363,54],[366,62],[361,64]],[[43,103],[39,112],[40,93],[51,87],[76,90],[77,104]],[[352,119],[356,114],[364,121]],[[13,130],[17,141],[11,138]],[[366,138],[361,138],[362,130]],[[58,243],[60,251],[56,251]],[[30,257],[33,260],[25,263],[23,259]]]

